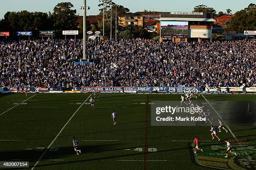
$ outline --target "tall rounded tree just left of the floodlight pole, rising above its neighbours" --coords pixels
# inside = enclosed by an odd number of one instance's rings
[[[61,35],[62,30],[77,29],[78,24],[75,20],[77,10],[72,10],[73,7],[71,2],[61,2],[54,7],[51,18],[57,34]]]

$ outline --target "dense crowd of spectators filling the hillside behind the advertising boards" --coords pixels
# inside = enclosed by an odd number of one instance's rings
[[[0,44],[0,87],[256,86],[256,40],[35,40]]]

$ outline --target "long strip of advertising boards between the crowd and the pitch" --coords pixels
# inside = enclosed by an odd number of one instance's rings
[[[228,91],[229,89],[229,91]],[[256,87],[206,87],[204,90],[200,87],[29,87],[27,92],[31,93],[81,93],[81,92],[97,92],[102,93],[184,93],[190,90],[200,93],[256,93]],[[17,87],[6,88],[0,87],[0,93],[17,92]],[[19,88],[19,92],[23,92],[23,88]]]

